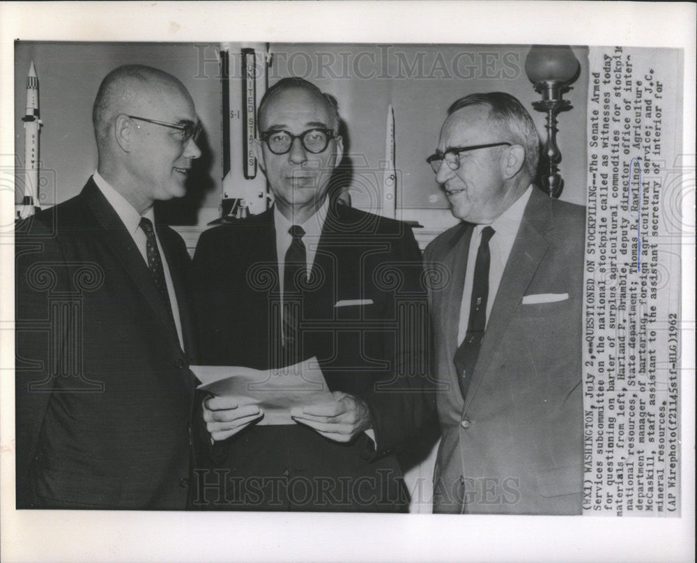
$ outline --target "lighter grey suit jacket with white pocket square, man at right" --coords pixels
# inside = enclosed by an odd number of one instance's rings
[[[585,209],[533,188],[463,399],[453,357],[471,233],[454,226],[424,258],[451,276],[430,291],[443,385],[434,511],[580,514]]]

